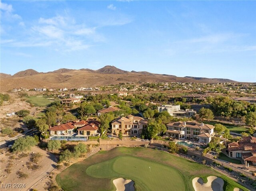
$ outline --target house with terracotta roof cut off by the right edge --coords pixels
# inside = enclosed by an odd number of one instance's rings
[[[248,162],[256,165],[256,138],[242,137],[238,142],[228,144],[228,155],[232,158],[241,158],[245,166]]]

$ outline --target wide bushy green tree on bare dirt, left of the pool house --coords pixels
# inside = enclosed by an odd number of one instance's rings
[[[12,145],[13,152],[24,152],[31,149],[37,144],[36,140],[31,136],[20,137],[14,141]]]

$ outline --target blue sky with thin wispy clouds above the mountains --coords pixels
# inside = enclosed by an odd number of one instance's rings
[[[256,82],[256,1],[2,1],[1,72],[114,65]]]

